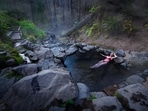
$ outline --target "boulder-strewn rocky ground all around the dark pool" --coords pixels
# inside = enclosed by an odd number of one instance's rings
[[[7,63],[9,67],[1,70],[0,111],[148,110],[147,52],[113,51],[85,43],[61,41],[53,35],[37,44],[26,40],[19,40],[16,44],[18,52],[25,56],[24,63],[17,66],[11,61]],[[76,81],[64,64],[68,57],[77,53],[78,58],[89,61],[100,59],[99,53],[110,52],[118,55],[113,64],[132,74],[120,82],[115,79],[115,84],[100,91],[91,91],[87,81]]]

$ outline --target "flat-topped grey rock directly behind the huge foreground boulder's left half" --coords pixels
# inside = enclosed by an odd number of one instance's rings
[[[17,67],[12,68],[12,71],[17,74],[21,74],[24,76],[35,74],[38,72],[37,64],[24,64]]]

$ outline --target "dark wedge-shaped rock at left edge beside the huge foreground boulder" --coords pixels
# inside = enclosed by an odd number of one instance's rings
[[[0,78],[0,99],[5,95],[14,82],[14,78],[8,79],[6,76]]]

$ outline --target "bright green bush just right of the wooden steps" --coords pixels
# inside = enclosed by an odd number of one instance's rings
[[[19,25],[22,26],[24,37],[31,41],[45,37],[45,32],[40,30],[29,20],[20,21]]]

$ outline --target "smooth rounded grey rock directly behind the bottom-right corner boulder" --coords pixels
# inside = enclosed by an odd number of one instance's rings
[[[126,79],[128,84],[143,83],[144,79],[138,75],[132,75]]]

